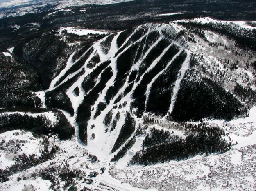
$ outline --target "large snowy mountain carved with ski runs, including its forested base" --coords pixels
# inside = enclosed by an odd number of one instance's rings
[[[62,27],[8,49],[0,189],[252,190],[255,34],[195,18]]]

